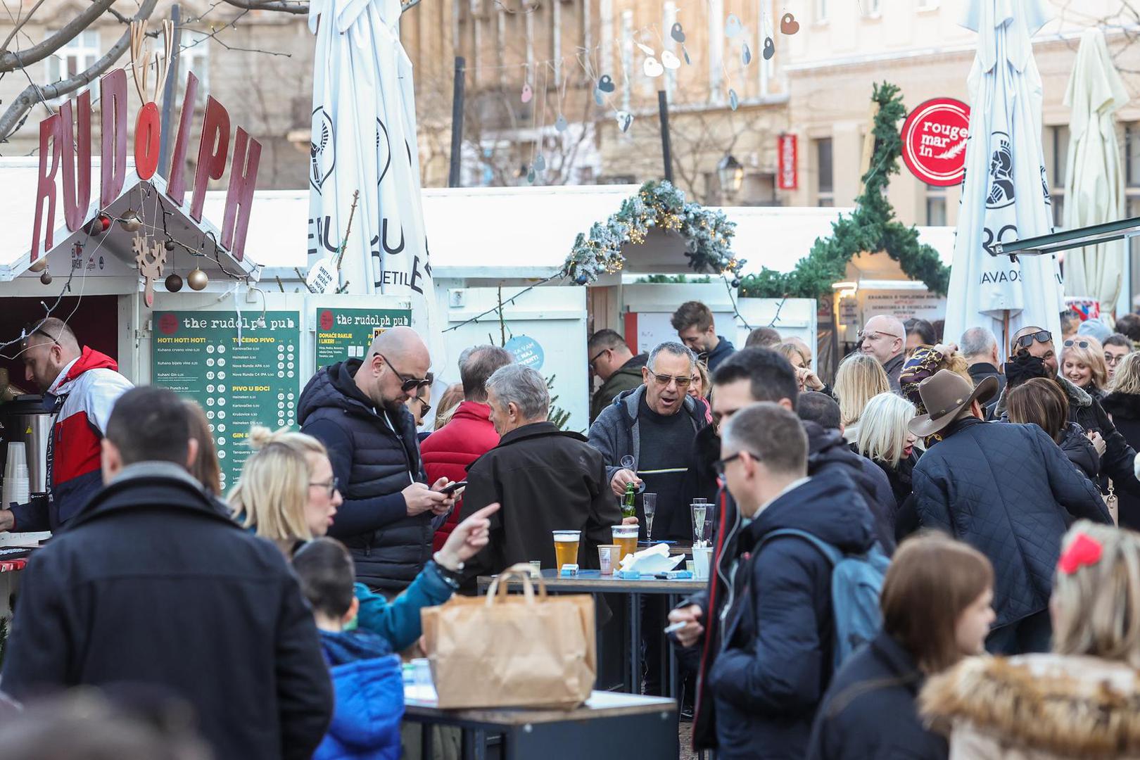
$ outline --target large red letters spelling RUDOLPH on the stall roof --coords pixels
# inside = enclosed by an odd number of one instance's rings
[[[182,114],[178,121],[170,162],[166,195],[179,206],[186,197],[186,149],[194,122],[194,104],[198,80],[190,73],[186,82]],[[99,80],[100,116],[103,125],[103,165],[99,185],[99,209],[106,209],[123,189],[127,179],[127,72],[116,68]],[[32,230],[32,256],[52,247],[56,226],[56,179],[63,169],[64,220],[67,229],[78,230],[84,222],[91,201],[91,92],[88,90],[74,101],[59,107],[59,113],[40,122],[40,170],[35,191],[35,219]],[[73,116],[74,114],[74,116]],[[78,121],[76,119],[78,117]],[[78,126],[78,130],[76,130]],[[141,180],[154,177],[158,170],[160,141],[158,108],[145,104],[135,125],[135,170]],[[198,160],[190,195],[190,218],[202,221],[202,206],[206,199],[206,185],[221,179],[229,153],[229,113],[212,97],[206,98],[206,111],[198,139]],[[258,164],[261,145],[237,128],[234,156],[226,191],[226,212],[222,216],[221,237],[218,243],[230,251],[238,261],[245,255],[245,235],[250,227],[253,190],[258,183]],[[44,209],[44,206],[47,206]],[[41,247],[41,231],[42,247]]]

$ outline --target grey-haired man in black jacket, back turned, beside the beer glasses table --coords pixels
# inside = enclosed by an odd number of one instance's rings
[[[491,515],[490,541],[464,567],[465,590],[519,562],[554,567],[556,530],[581,531],[578,565],[597,569],[597,546],[611,544],[611,528],[622,523],[602,455],[581,434],[547,422],[546,381],[529,367],[495,370],[487,403],[503,438],[467,467],[461,520],[489,504],[502,508]]]

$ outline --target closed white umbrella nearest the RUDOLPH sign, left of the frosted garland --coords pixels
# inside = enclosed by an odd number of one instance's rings
[[[309,264],[339,259],[348,293],[412,301],[413,320],[442,366],[420,203],[412,62],[400,44],[399,0],[314,0],[317,34],[309,166]]]

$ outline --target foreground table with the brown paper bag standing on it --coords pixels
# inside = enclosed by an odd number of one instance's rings
[[[423,757],[432,757],[432,726],[463,730],[463,759],[483,760],[488,735],[500,735],[503,760],[629,760],[676,758],[677,703],[657,696],[594,692],[572,710],[479,708],[441,710],[434,689],[407,685],[404,720],[422,728]]]

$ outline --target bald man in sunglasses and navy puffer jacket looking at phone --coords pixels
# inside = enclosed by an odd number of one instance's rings
[[[394,596],[431,558],[432,536],[455,499],[431,488],[415,420],[405,402],[431,385],[427,346],[410,327],[372,342],[364,361],[349,359],[314,375],[301,392],[301,432],[328,448],[344,504],[328,534],[349,547],[357,580]]]

